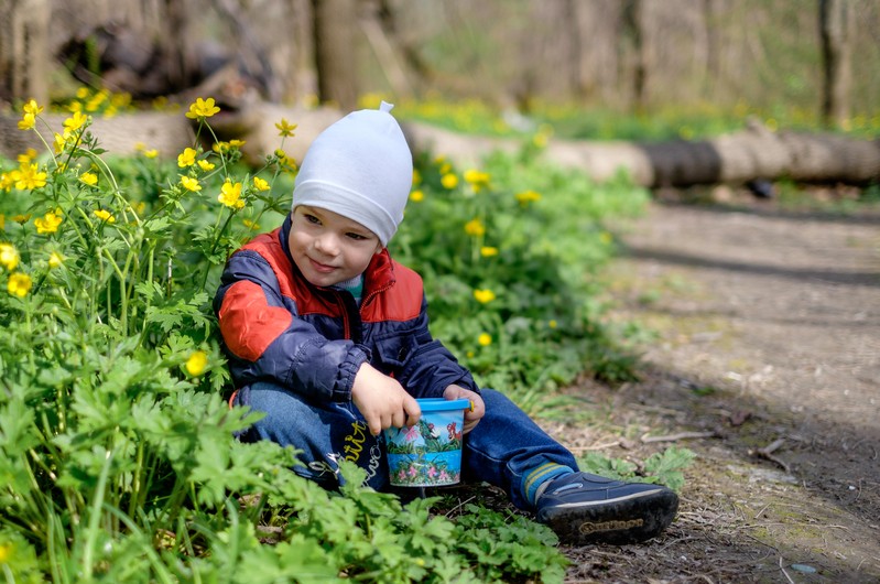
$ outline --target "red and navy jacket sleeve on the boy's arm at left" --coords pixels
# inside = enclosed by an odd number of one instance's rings
[[[294,299],[259,253],[241,250],[226,264],[214,299],[236,387],[263,380],[323,401],[349,401],[366,349],[329,340],[303,321]]]

